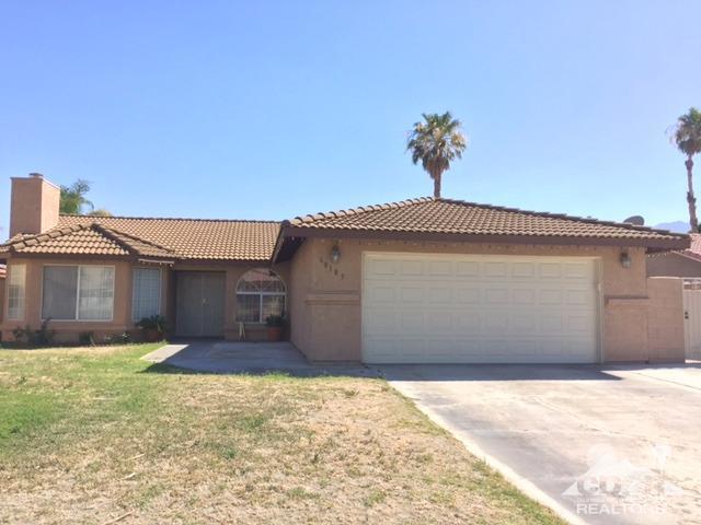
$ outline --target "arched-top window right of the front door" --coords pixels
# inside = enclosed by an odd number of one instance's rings
[[[246,271],[237,284],[237,320],[265,323],[268,315],[284,315],[285,283],[273,270]]]

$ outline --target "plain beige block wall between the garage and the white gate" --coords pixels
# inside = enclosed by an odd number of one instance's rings
[[[683,361],[682,280],[674,277],[648,278],[647,296],[650,298],[647,316],[650,361]]]

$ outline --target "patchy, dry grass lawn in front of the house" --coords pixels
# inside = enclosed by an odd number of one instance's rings
[[[560,523],[383,381],[153,348],[0,350],[0,523]]]

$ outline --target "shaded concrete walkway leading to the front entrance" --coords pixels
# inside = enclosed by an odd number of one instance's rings
[[[289,342],[198,340],[165,345],[141,359],[195,372],[217,374],[283,372],[300,376],[378,376],[376,370],[363,365],[310,363]]]

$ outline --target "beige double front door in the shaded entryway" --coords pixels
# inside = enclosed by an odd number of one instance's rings
[[[175,334],[181,337],[223,335],[226,276],[212,271],[179,271]]]

